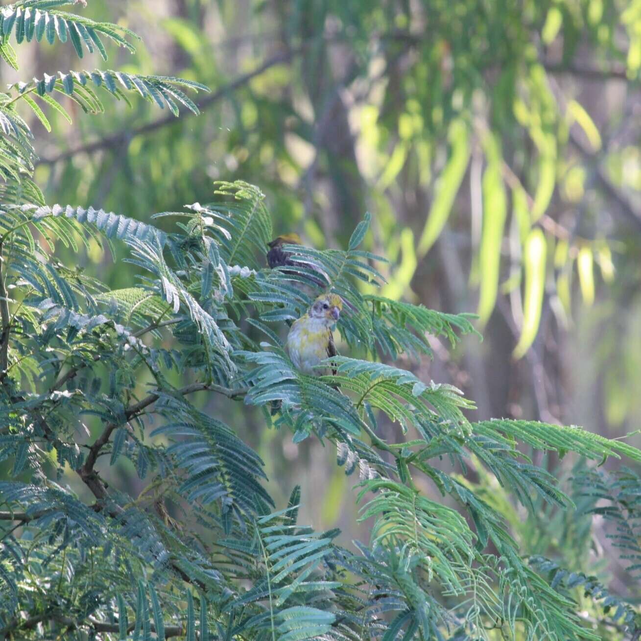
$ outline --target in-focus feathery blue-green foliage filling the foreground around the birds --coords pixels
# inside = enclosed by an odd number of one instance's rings
[[[98,48],[90,28],[117,33],[56,13],[62,4],[5,8],[4,51],[12,33],[38,40],[42,15]],[[148,99],[151,87],[170,91],[168,79],[138,78],[147,94],[128,79]],[[17,85],[3,106],[23,142],[16,106],[38,86]],[[16,151],[33,148],[6,140],[16,155],[0,207],[0,460],[11,469],[0,482],[0,637],[600,638],[561,578],[524,558],[504,513],[440,462],[472,462],[536,516],[540,501],[574,503],[522,445],[597,462],[641,452],[574,427],[472,423],[460,390],[379,362],[429,354],[430,334],[456,344],[474,329],[465,315],[363,293],[381,284],[384,260],[361,249],[369,215],[346,251],[290,246],[296,271],[265,269],[271,217],[253,185],[216,183],[211,203],[158,214],[161,229],[47,206]],[[92,242],[126,251],[128,287],[56,259],[56,246]],[[280,337],[330,291],[345,301],[338,331],[354,358],[335,358],[336,376],[306,376]],[[294,442],[335,448],[373,524],[369,542],[346,549],[337,530],[301,526],[298,488],[276,505],[239,426],[204,412],[197,392],[260,408],[263,429],[290,430]],[[407,438],[381,438],[381,416]],[[106,482],[123,461],[142,492]],[[441,500],[419,490],[423,479]],[[629,612],[613,619],[634,632]]]

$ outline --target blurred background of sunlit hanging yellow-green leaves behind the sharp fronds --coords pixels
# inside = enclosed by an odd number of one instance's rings
[[[639,0],[89,0],[83,15],[143,37],[137,56],[112,47],[108,68],[175,74],[212,93],[197,118],[144,101],[95,119],[64,103],[71,125],[47,111],[36,171],[47,203],[146,221],[210,201],[214,179],[244,179],[267,194],[278,233],[317,247],[345,247],[372,212],[367,249],[391,259],[385,296],[479,314],[485,340],[451,352],[434,339],[433,360],[412,364],[420,378],[461,387],[474,419],[608,437],[638,428]],[[0,67],[4,83],[79,69],[70,47],[20,54],[19,74]],[[101,64],[93,58],[88,68]],[[113,288],[128,283],[97,246],[67,258]],[[228,405],[207,409],[243,426],[275,497],[303,481],[303,520],[367,538],[343,500],[351,479],[319,444],[259,432]],[[119,482],[139,482],[128,474]],[[563,546],[561,518],[529,547],[528,524],[512,522],[526,549],[549,553],[550,537]],[[599,528],[576,548],[578,567],[607,556]]]

